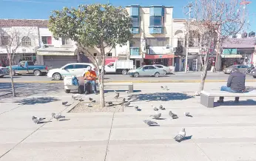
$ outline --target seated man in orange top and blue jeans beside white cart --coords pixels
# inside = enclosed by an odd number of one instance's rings
[[[92,70],[92,67],[91,66],[88,66],[87,67],[88,71],[85,73],[84,75],[84,80],[86,80],[85,84],[84,84],[84,92],[85,94],[88,94],[88,85],[89,83],[92,85],[92,91],[93,93],[97,94],[97,91],[96,91],[96,73],[95,71]]]

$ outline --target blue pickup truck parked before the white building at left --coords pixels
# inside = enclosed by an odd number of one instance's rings
[[[7,69],[10,70],[10,66],[7,66]],[[17,66],[12,66],[13,75],[34,74],[40,76],[46,75],[47,71],[47,66],[35,65],[33,61],[21,61]]]

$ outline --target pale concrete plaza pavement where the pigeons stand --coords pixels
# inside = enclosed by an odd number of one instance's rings
[[[222,84],[206,83],[205,89],[220,89]],[[168,92],[160,87],[166,85]],[[0,160],[256,160],[256,103],[245,101],[253,98],[242,98],[238,105],[229,101],[207,109],[200,104],[200,97],[191,96],[198,86],[135,83],[137,92],[121,92],[121,97],[133,95],[134,101],[119,113],[66,113],[77,102],[64,90],[1,99]],[[113,95],[106,92],[106,100]],[[98,95],[90,97],[98,99]],[[62,106],[64,100],[71,105]],[[152,120],[151,105],[160,104],[166,108],[161,111],[164,120],[157,120],[160,126],[146,126],[142,120]],[[141,112],[135,111],[135,105]],[[179,118],[170,120],[169,110]],[[70,120],[51,120],[52,112],[61,112]],[[191,112],[193,117],[185,117],[183,112]],[[52,122],[34,124],[33,115]],[[191,139],[177,143],[173,137],[182,128]]]

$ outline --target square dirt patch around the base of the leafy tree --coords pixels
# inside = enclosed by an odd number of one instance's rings
[[[101,108],[99,102],[90,103],[92,107],[87,106],[90,102],[78,103],[73,109],[70,110],[71,113],[90,113],[90,112],[124,112],[124,108],[119,101],[113,101],[112,106],[108,106],[106,103],[104,108]]]

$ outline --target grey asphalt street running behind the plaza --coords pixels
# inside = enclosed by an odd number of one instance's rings
[[[207,81],[227,81],[229,75],[223,74],[223,72],[208,72],[207,73]],[[18,75],[15,76],[15,81],[51,81],[47,76],[36,77],[33,75]],[[175,72],[173,75],[163,75],[159,78],[155,77],[139,77],[132,78],[129,75],[105,75],[105,81],[200,81],[201,80],[201,72]],[[252,78],[252,76],[246,76],[247,81],[256,81],[256,79]],[[1,82],[10,81],[9,76],[4,76],[4,78],[0,78]]]

